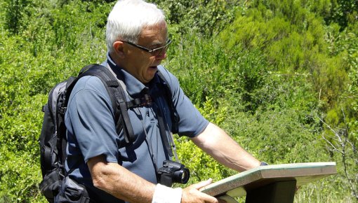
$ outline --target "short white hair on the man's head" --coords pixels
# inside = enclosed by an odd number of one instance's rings
[[[165,21],[163,10],[153,3],[142,0],[119,0],[107,19],[106,43],[112,52],[113,43],[118,40],[137,43],[144,27],[158,25]]]

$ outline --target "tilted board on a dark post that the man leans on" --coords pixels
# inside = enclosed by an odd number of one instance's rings
[[[200,191],[237,203],[246,196],[246,203],[293,203],[296,188],[337,173],[336,162],[307,162],[260,166],[211,183]]]

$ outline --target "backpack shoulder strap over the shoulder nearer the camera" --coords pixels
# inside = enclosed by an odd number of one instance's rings
[[[117,134],[119,134],[119,132],[123,129],[126,143],[133,142],[135,136],[133,127],[131,125],[131,120],[129,119],[128,115],[126,94],[117,78],[114,77],[112,72],[107,69],[107,67],[100,64],[91,64],[85,66],[83,69],[81,69],[77,78],[84,76],[96,76],[100,78],[102,83],[105,85],[108,94],[110,95],[112,108],[114,110]]]

